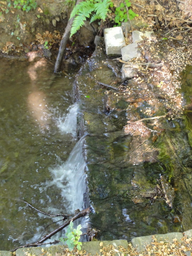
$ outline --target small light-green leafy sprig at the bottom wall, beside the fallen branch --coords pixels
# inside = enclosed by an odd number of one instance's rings
[[[73,228],[73,221],[71,221],[66,232],[67,238],[60,238],[62,243],[66,242],[70,251],[72,251],[75,247],[77,247],[78,250],[81,250],[82,243],[79,242],[79,239],[82,232],[80,229],[81,225],[78,225],[77,229]]]

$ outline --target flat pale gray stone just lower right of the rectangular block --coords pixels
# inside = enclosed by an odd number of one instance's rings
[[[122,60],[124,61],[141,56],[141,53],[138,50],[138,45],[136,44],[136,42],[133,42],[133,44],[123,47],[121,49],[121,54],[122,54]]]

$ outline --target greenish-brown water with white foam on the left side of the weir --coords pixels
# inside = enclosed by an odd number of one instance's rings
[[[46,218],[23,200],[52,214],[82,209],[83,141],[72,89],[72,79],[53,74],[45,59],[0,59],[0,250],[35,242],[62,223],[48,226],[62,218]]]

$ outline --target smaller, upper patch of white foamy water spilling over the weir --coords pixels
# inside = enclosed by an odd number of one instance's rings
[[[67,115],[59,116],[56,119],[56,125],[61,133],[63,134],[71,133],[74,137],[76,136],[77,114],[78,114],[78,104],[74,103],[68,108]]]

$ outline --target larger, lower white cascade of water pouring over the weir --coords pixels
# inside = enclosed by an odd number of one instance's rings
[[[83,137],[76,143],[68,160],[54,168],[49,168],[53,180],[50,185],[60,189],[63,204],[72,214],[83,208],[83,195],[86,193],[86,163],[82,155]]]

